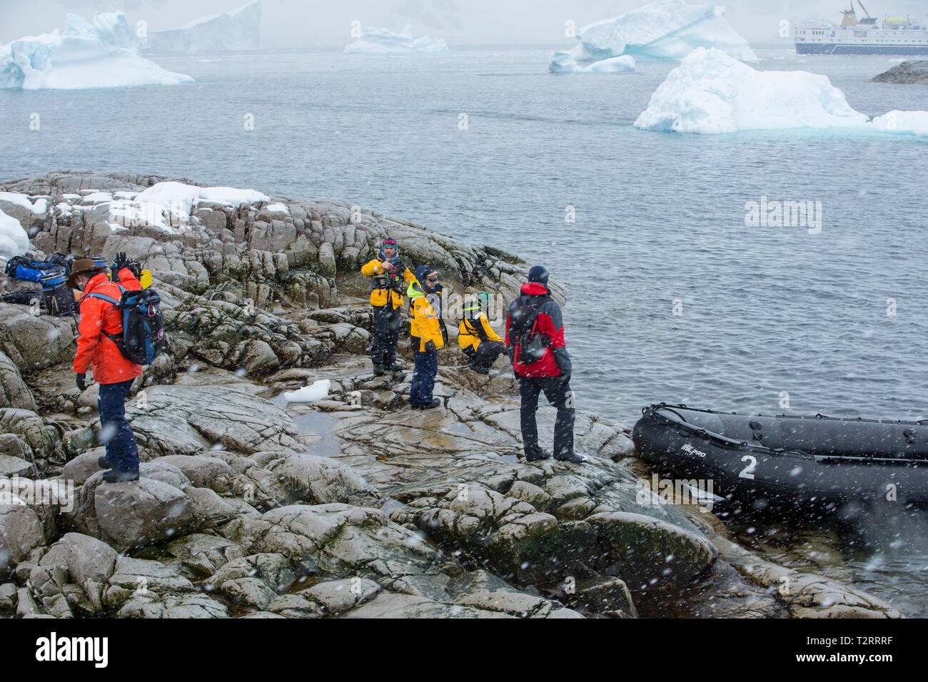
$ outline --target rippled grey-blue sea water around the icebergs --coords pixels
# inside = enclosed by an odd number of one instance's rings
[[[760,55],[761,69],[830,76],[870,115],[928,109],[928,88],[869,83],[893,58]],[[514,251],[569,286],[578,406],[629,426],[659,401],[928,417],[926,138],[638,131],[673,64],[554,76],[541,51],[155,60],[198,83],[0,91],[0,178],[186,176],[347,199]],[[762,196],[820,201],[820,233],[746,226]],[[858,547],[846,559],[880,591],[887,564],[868,557],[892,547]],[[926,557],[901,560],[908,612],[928,603]]]

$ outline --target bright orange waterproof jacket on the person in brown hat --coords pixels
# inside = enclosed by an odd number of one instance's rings
[[[123,268],[119,277],[123,289],[138,290],[141,285],[128,269]],[[108,301],[87,298],[89,293],[101,293],[119,301],[122,291],[110,282],[105,273],[100,273],[84,288],[81,296],[81,322],[77,329],[77,354],[74,356],[73,369],[84,374],[87,367],[94,368],[94,381],[97,383],[119,383],[135,379],[142,373],[143,367],[126,360],[103,332],[122,334],[122,311]]]

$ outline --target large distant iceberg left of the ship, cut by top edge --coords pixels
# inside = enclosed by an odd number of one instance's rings
[[[741,61],[757,61],[751,45],[725,20],[725,7],[690,5],[684,0],[651,3],[621,17],[597,21],[581,29],[577,40],[580,45],[570,52],[554,53],[550,71],[576,72],[624,55],[640,61],[678,61],[697,47],[720,49]]]

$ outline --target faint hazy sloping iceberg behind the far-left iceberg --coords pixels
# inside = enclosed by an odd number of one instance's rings
[[[171,31],[148,33],[142,49],[151,52],[223,52],[261,47],[261,0],[225,14],[213,14]]]

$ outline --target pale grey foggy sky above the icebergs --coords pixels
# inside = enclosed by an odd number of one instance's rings
[[[0,44],[25,35],[60,29],[68,12],[90,19],[122,10],[131,23],[148,22],[149,31],[177,28],[204,15],[225,12],[245,0],[0,0]],[[728,23],[754,44],[790,44],[780,39],[781,19],[841,19],[849,0],[719,0],[728,6]],[[564,22],[577,28],[647,4],[647,0],[262,0],[261,38],[265,49],[307,52],[341,49],[352,41],[351,21],[400,31],[406,22],[416,35],[445,38],[461,47],[570,47]],[[696,4],[695,0],[693,4]],[[883,14],[923,19],[925,0],[868,0],[875,17]],[[859,7],[858,17],[864,16]]]

